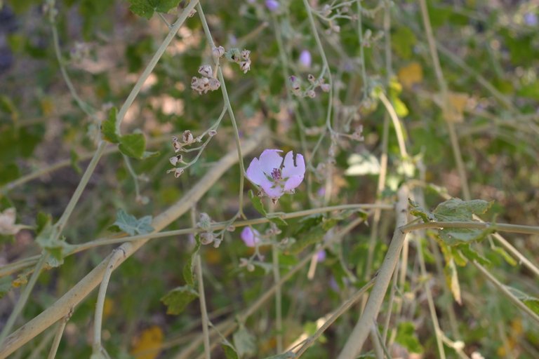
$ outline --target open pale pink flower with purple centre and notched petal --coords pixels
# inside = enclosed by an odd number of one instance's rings
[[[292,151],[286,154],[284,161],[280,152],[280,149],[265,149],[260,158],[253,158],[246,171],[247,178],[274,201],[285,193],[293,193],[305,176],[305,160],[301,154],[295,155],[294,164]]]

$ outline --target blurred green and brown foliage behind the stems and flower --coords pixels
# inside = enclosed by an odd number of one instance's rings
[[[537,225],[539,218],[539,4],[517,0],[427,1],[444,76],[456,111],[454,121],[473,198],[495,201],[491,214],[497,222]],[[272,136],[253,156],[265,148],[302,151],[305,136],[307,155],[311,154],[326,121],[328,95],[289,97],[288,79],[279,54],[276,36],[281,36],[288,61],[286,71],[307,83],[307,74],[321,72],[321,57],[310,32],[302,1],[278,1],[279,9],[269,11],[267,1],[202,1],[215,43],[251,50],[251,71],[241,74],[236,65],[225,63],[223,72],[241,136],[248,137],[259,126],[270,126]],[[123,0],[58,1],[57,27],[64,65],[81,99],[91,107],[92,116],[81,111],[62,79],[55,57],[51,25],[43,15],[41,1],[0,1],[0,210],[15,207],[17,222],[34,225],[39,212],[58,219],[79,182],[95,149],[100,121],[107,109],[124,101],[161,39],[167,32],[159,16],[150,20],[129,11]],[[316,9],[324,1],[312,1]],[[427,182],[460,196],[451,144],[439,109],[439,93],[434,67],[427,46],[421,14],[416,1],[394,1],[391,7],[392,72],[387,74],[383,37],[382,1],[361,1],[364,65],[361,76],[357,38],[356,4],[333,22],[317,18],[335,84],[333,126],[352,133],[363,126],[364,141],[347,137],[326,137],[314,156],[303,184],[293,196],[284,196],[278,210],[290,212],[314,208],[324,203],[324,171],[333,151],[333,187],[330,204],[392,201],[394,191],[406,179],[418,178],[418,163],[424,164]],[[169,22],[175,9],[165,15]],[[349,18],[347,18],[349,17]],[[352,17],[352,19],[350,19]],[[335,31],[335,26],[340,27]],[[333,29],[333,30],[332,30]],[[300,53],[312,54],[312,63],[300,62]],[[64,232],[69,243],[84,243],[109,235],[118,208],[137,217],[157,215],[185,194],[223,153],[234,149],[232,126],[225,117],[211,144],[196,165],[175,179],[167,175],[168,158],[173,156],[170,139],[184,130],[202,133],[218,118],[222,109],[220,91],[204,95],[192,91],[189,83],[200,65],[209,63],[211,51],[197,16],[187,20],[161,58],[142,92],[129,109],[124,133],[142,130],[148,149],[159,156],[133,160],[140,196],[122,156],[113,151],[98,165],[91,182]],[[391,76],[394,75],[394,76]],[[387,78],[392,80],[388,83]],[[378,158],[386,111],[373,95],[385,88],[404,124],[408,152],[403,161],[394,130],[390,129],[387,182],[381,197],[376,196]],[[302,135],[297,116],[307,128]],[[333,147],[333,148],[332,148]],[[252,156],[246,158],[249,163]],[[67,160],[67,161],[65,161]],[[39,178],[16,184],[16,180],[65,161],[55,170],[45,170]],[[406,163],[411,165],[406,167]],[[237,212],[239,190],[237,167],[229,170],[197,205],[215,221],[229,219]],[[250,184],[247,185],[251,187]],[[251,187],[252,188],[252,187]],[[442,201],[437,191],[427,189],[431,208]],[[145,201],[147,198],[149,201]],[[248,217],[258,213],[247,205]],[[346,219],[345,221],[346,222]],[[341,223],[344,223],[341,222]],[[380,266],[387,248],[394,217],[383,215],[372,269]],[[279,238],[297,228],[289,220]],[[191,226],[188,216],[169,229]],[[264,226],[257,227],[260,231]],[[366,271],[368,226],[359,226],[327,252],[317,266],[313,280],[300,272],[284,287],[286,342],[304,330],[312,332],[314,322],[346,299],[354,287],[361,287]],[[516,248],[537,263],[537,236],[508,236]],[[0,263],[36,255],[34,232],[0,240]],[[173,287],[184,284],[182,266],[192,243],[188,236],[151,241],[122,264],[112,275],[105,303],[104,345],[113,358],[174,358],[181,346],[199,334],[197,302],[179,316],[166,315],[160,298]],[[111,250],[95,248],[65,258],[58,269],[45,271],[32,294],[20,324],[50,306],[74,283],[98,264]],[[412,247],[410,257],[418,248]],[[516,263],[509,263],[487,245],[484,255],[491,270],[503,283],[537,296],[538,280]],[[422,248],[427,267],[436,272],[432,246]],[[264,249],[262,249],[264,252]],[[253,303],[272,285],[262,267],[248,272],[239,268],[239,258],[251,255],[239,238],[239,230],[227,233],[220,248],[203,247],[201,255],[206,280],[208,311],[213,323],[234,318],[234,313]],[[266,257],[270,252],[265,252]],[[439,254],[438,254],[439,255]],[[281,255],[286,272],[300,255]],[[430,260],[429,260],[430,259]],[[396,341],[401,353],[420,352],[422,358],[437,356],[436,343],[428,318],[420,272],[409,262],[406,292],[398,293],[405,310],[394,319]],[[512,265],[514,264],[514,265]],[[444,278],[433,274],[441,327],[448,329],[446,308],[458,316],[458,332],[465,341],[465,352],[479,351],[485,358],[538,358],[539,329],[521,318],[507,299],[496,295],[470,265],[458,268],[463,304],[456,304],[445,290]],[[15,280],[17,275],[8,278]],[[358,278],[351,283],[350,278]],[[4,278],[4,282],[6,280]],[[9,286],[8,286],[9,287]],[[3,323],[17,299],[18,290],[9,290],[0,300]],[[84,358],[91,354],[91,325],[96,293],[74,311],[60,344],[60,358]],[[383,313],[380,318],[383,317]],[[305,353],[305,358],[334,358],[357,319],[357,311],[345,313],[324,337]],[[273,309],[269,304],[245,323],[255,337],[256,355],[274,353]],[[314,326],[316,328],[316,326]],[[44,332],[20,349],[13,358],[43,357],[39,344],[51,339]],[[504,345],[505,344],[505,345]],[[220,349],[219,349],[220,350]],[[455,353],[448,350],[450,357]],[[507,351],[510,351],[509,353]],[[411,355],[411,354],[410,354]],[[215,358],[224,357],[216,352]]]

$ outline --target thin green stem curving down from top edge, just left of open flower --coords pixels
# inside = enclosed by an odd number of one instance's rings
[[[204,16],[204,11],[202,11],[202,6],[200,4],[197,4],[197,11],[199,13],[200,21],[202,22],[202,28],[204,29],[206,40],[208,41],[210,49],[212,49],[215,47],[215,43],[213,42],[213,37],[211,36],[210,28],[208,27],[208,22],[206,21],[206,16]],[[234,140],[236,140],[236,148],[238,151],[238,160],[239,160],[239,214],[242,215],[244,211],[244,183],[245,183],[244,156],[241,154],[241,141],[239,140],[239,129],[236,122],[236,117],[234,116],[234,110],[232,110],[232,104],[230,104],[230,99],[228,97],[225,78],[222,76],[222,69],[219,66],[219,60],[214,59],[214,63],[217,66],[217,76],[219,77],[219,82],[221,83],[222,100],[225,101],[225,106],[228,109],[228,115],[230,116],[230,121],[232,121],[232,128],[234,128]]]

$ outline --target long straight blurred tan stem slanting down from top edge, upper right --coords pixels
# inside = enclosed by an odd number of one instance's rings
[[[468,180],[466,169],[463,163],[463,156],[460,154],[460,145],[458,144],[455,124],[451,121],[451,119],[447,118],[447,115],[450,113],[449,111],[452,111],[453,109],[449,103],[448,88],[446,80],[444,79],[444,73],[441,71],[440,60],[436,50],[436,41],[434,40],[434,34],[432,34],[432,27],[430,25],[427,3],[425,0],[419,0],[419,4],[421,8],[423,26],[425,26],[427,41],[429,43],[430,56],[432,57],[432,62],[434,65],[434,72],[436,73],[438,85],[441,90],[442,112],[447,123],[449,140],[451,141],[451,147],[453,148],[453,155],[455,157],[455,163],[457,164],[458,175],[460,177],[460,184],[463,187],[463,196],[466,201],[470,201],[472,197],[470,196],[470,189],[468,188]]]

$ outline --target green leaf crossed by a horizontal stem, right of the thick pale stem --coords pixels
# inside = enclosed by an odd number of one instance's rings
[[[482,215],[491,208],[492,203],[481,199],[463,201],[459,198],[451,198],[440,203],[432,214],[440,222],[475,222],[472,216]],[[493,231],[494,229],[444,228],[439,231],[439,236],[448,245],[456,245],[480,241]]]

